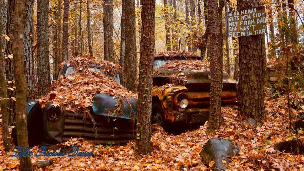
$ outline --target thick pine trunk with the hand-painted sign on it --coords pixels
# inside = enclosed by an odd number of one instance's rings
[[[258,6],[255,0],[237,1],[238,10]],[[239,113],[258,122],[266,120],[262,39],[261,35],[239,37]]]

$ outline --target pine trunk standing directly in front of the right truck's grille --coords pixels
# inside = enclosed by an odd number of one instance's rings
[[[210,35],[210,114],[209,130],[219,129],[222,121],[221,116],[221,94],[223,88],[223,39],[221,24],[219,22],[217,0],[208,1],[208,24]]]

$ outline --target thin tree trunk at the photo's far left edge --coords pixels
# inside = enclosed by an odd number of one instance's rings
[[[2,32],[2,15],[0,15],[0,31]],[[1,113],[2,113],[2,139],[4,150],[8,152],[11,148],[11,139],[9,138],[9,115],[7,113],[7,99],[6,99],[6,85],[5,85],[5,76],[4,76],[4,58],[2,54],[2,41],[6,41],[2,39],[2,34],[0,34],[0,95],[1,95]]]

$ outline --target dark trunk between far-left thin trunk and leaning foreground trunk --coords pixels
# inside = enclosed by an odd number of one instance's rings
[[[14,31],[14,10],[15,10],[15,1],[8,0],[7,5],[7,24],[6,24],[6,35],[11,39],[7,42],[6,56],[13,54],[13,31]],[[14,87],[14,65],[13,58],[7,58],[5,61],[5,77],[8,87]],[[8,102],[8,113],[9,113],[9,123],[16,121],[16,108],[15,108],[15,97],[16,92],[12,90],[7,91]]]

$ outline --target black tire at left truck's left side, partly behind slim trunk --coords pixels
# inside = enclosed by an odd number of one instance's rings
[[[32,105],[33,106],[30,108],[30,110],[27,111],[26,117],[29,146],[33,146],[37,143],[40,143],[43,138],[42,110],[39,103],[35,103]],[[18,145],[16,127],[12,129],[12,139],[13,143],[15,145]]]

